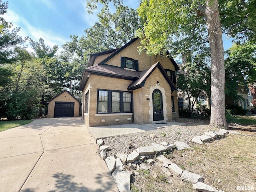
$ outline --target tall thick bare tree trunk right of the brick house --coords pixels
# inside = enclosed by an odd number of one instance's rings
[[[211,52],[211,120],[210,125],[228,128],[225,117],[225,68],[222,29],[218,0],[206,0],[204,10]]]

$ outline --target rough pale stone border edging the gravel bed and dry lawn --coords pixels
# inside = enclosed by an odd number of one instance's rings
[[[196,136],[192,138],[192,142],[196,144],[203,144],[203,142],[207,142],[210,140],[214,140],[216,138],[223,138],[226,134],[241,134],[236,131],[228,131],[224,129],[220,129],[219,131],[213,132],[205,132],[204,135]],[[168,150],[173,150],[176,148],[177,150],[185,150],[191,148],[188,144],[184,142],[174,142],[167,143],[161,142],[160,144],[151,143],[150,146],[139,147],[134,150],[131,154],[121,153],[116,154],[115,156],[106,157],[106,150],[110,146],[105,146],[102,139],[97,140],[97,145],[100,149],[100,156],[103,160],[105,160],[106,165],[108,166],[108,170],[112,174],[114,182],[120,192],[129,192],[130,191],[130,174],[138,175],[138,172],[130,172],[128,170],[124,170],[124,165],[128,165],[129,167],[136,170],[150,170],[150,165],[154,164],[154,160],[152,159],[152,155],[159,154],[156,159],[162,162],[162,171],[167,176],[175,176],[181,178],[186,182],[192,183],[193,188],[200,192],[224,192],[222,190],[217,190],[215,187],[207,185],[201,182],[204,178],[198,174],[188,172],[186,170],[182,170],[177,164],[172,163],[168,158],[164,155],[160,154],[162,152],[166,152]],[[146,161],[149,165],[143,163],[142,161]]]

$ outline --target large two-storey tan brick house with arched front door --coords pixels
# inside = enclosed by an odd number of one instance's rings
[[[83,70],[82,119],[87,127],[172,122],[178,117],[175,72],[166,54],[138,53],[140,39],[91,54]]]

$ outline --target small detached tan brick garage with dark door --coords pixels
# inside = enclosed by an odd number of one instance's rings
[[[67,90],[48,100],[48,118],[78,117],[81,103]]]

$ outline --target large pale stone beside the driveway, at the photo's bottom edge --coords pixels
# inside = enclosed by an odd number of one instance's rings
[[[112,177],[116,183],[116,186],[120,192],[129,192],[130,190],[130,172],[115,170],[112,173]]]

